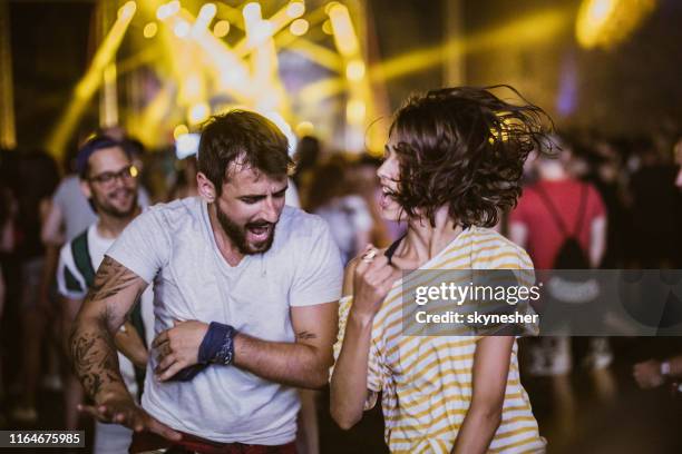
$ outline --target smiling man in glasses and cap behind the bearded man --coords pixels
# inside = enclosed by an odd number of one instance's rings
[[[67,335],[88,289],[92,287],[95,273],[106,250],[140,213],[137,169],[120,142],[104,136],[91,138],[78,154],[77,170],[80,188],[98,215],[98,220],[65,244],[59,255],[57,282],[59,294],[64,297],[64,333]],[[147,362],[143,339],[152,336],[152,298],[149,290],[142,295],[129,322],[115,337],[120,374],[136,401],[142,393]],[[148,320],[148,329],[145,329],[143,320]],[[82,391],[75,376],[67,382],[66,399],[69,407],[82,401]],[[124,426],[97,423],[95,453],[127,452],[130,438],[131,431]]]

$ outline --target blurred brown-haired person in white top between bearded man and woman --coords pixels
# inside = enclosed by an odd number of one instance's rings
[[[364,199],[353,193],[348,180],[349,165],[334,157],[312,170],[305,210],[327,221],[341,251],[343,265],[368,243],[372,218]]]

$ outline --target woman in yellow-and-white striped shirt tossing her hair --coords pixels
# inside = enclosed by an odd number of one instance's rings
[[[515,337],[405,336],[402,288],[419,273],[396,284],[401,270],[533,268],[520,247],[486,227],[520,193],[523,164],[544,137],[540,115],[478,88],[429,91],[396,114],[377,172],[380,206],[408,230],[345,270],[331,378],[331,414],[342,428],[381,393],[393,453],[544,451]]]

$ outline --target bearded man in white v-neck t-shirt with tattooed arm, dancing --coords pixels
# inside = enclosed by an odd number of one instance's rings
[[[86,411],[140,433],[130,452],[295,452],[295,387],[327,382],[342,267],[325,223],[284,206],[290,166],[270,120],[213,117],[201,198],[152,207],[107,251],[70,347],[96,404]],[[140,408],[108,359],[111,333],[150,283],[158,337]]]

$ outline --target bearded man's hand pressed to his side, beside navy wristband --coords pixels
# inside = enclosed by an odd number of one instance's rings
[[[198,363],[199,346],[208,330],[208,324],[197,320],[174,322],[174,325],[152,343],[158,358],[154,373],[162,382]]]

